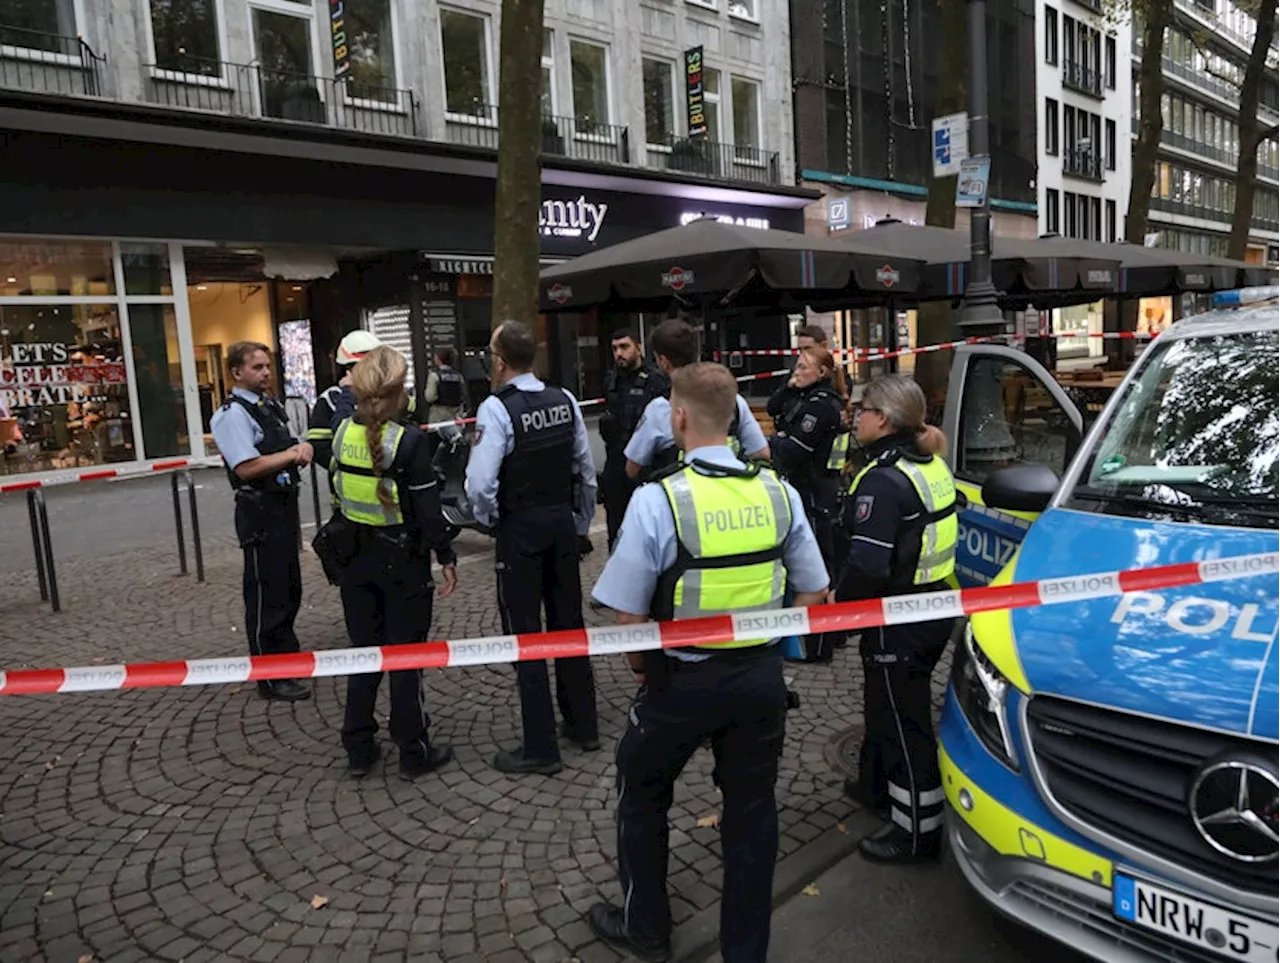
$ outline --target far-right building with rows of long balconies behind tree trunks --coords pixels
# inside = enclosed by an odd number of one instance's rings
[[[1164,132],[1151,197],[1149,231],[1158,234],[1162,247],[1226,255],[1240,150],[1239,85],[1254,29],[1253,18],[1228,0],[1175,0],[1174,23],[1165,35]],[[1135,73],[1140,44],[1142,32],[1135,26]],[[1275,58],[1274,46],[1272,64]],[[1133,115],[1137,136],[1137,100]],[[1275,70],[1268,70],[1262,83],[1258,123],[1262,128],[1280,124],[1280,73]],[[1275,138],[1258,149],[1245,259],[1280,264],[1280,143]]]

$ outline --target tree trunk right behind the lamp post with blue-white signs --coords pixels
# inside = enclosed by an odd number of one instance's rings
[[[938,31],[941,60],[938,63],[938,117],[955,114],[969,105],[969,8],[965,0],[940,0]],[[924,205],[924,223],[934,228],[956,225],[956,178],[932,174],[929,196]],[[951,341],[951,305],[931,301],[916,311],[915,343],[941,344]],[[915,356],[915,380],[924,389],[934,417],[947,398],[947,375],[951,352],[934,351]]]

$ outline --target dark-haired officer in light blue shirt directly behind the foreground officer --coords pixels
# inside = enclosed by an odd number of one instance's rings
[[[658,359],[658,368],[668,378],[672,371],[698,360],[698,337],[694,329],[676,318],[654,328],[649,343]],[[741,396],[733,409],[728,439],[730,448],[739,456],[745,455],[748,461],[767,461],[769,457],[764,432],[756,424],[751,406]],[[627,460],[627,478],[631,479],[640,479],[645,473],[653,475],[680,460],[680,446],[671,433],[671,402],[667,398],[654,398],[645,406],[640,426],[623,455]]]

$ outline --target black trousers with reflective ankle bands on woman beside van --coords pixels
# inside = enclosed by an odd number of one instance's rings
[[[931,590],[929,587],[924,590]],[[913,846],[942,831],[946,799],[933,732],[931,680],[955,619],[868,629],[861,636],[867,734],[859,759],[863,797],[887,807]]]

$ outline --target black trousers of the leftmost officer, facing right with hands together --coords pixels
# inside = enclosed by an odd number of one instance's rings
[[[298,497],[238,494],[236,533],[244,551],[244,636],[251,656],[298,651],[293,622],[302,607]]]

